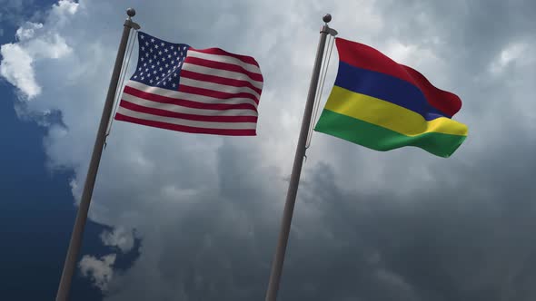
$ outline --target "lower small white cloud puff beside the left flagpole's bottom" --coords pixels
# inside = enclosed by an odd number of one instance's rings
[[[99,287],[101,290],[106,290],[108,283],[114,277],[115,254],[106,255],[97,259],[93,256],[84,256],[78,267],[84,277],[89,277],[94,286]]]

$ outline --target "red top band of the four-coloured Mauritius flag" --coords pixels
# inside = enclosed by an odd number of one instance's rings
[[[442,91],[432,85],[421,73],[400,63],[365,44],[336,38],[339,60],[352,66],[385,73],[412,83],[419,88],[426,100],[437,110],[453,116],[462,108],[462,100],[451,92]]]

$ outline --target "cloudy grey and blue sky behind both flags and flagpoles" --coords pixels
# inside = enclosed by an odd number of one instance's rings
[[[257,136],[114,122],[73,299],[263,299],[325,13],[459,95],[469,136],[444,159],[314,133],[279,300],[536,298],[529,0],[0,0],[2,296],[55,296],[131,6],[148,34],[257,60]]]

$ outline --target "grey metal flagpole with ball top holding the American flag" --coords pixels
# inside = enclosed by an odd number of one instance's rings
[[[67,250],[67,256],[65,257],[64,270],[58,287],[56,301],[66,301],[69,296],[69,289],[73,280],[74,270],[76,268],[76,260],[80,254],[80,248],[82,247],[82,237],[84,235],[84,226],[87,220],[87,212],[89,210],[89,204],[93,195],[94,182],[99,169],[99,163],[101,155],[103,154],[103,147],[105,141],[106,128],[112,115],[114,108],[115,92],[117,90],[117,84],[119,82],[119,75],[124,62],[124,53],[126,51],[126,44],[131,29],[139,29],[140,26],[132,21],[132,17],[136,15],[134,8],[126,10],[128,17],[124,21],[123,35],[121,36],[121,42],[119,49],[117,50],[117,56],[115,58],[114,71],[108,87],[108,94],[106,95],[106,101],[104,102],[103,114],[101,116],[101,122],[99,124],[99,130],[97,131],[96,139],[94,141],[93,154],[91,155],[91,161],[87,170],[87,177],[85,178],[84,191],[82,192],[82,199],[80,199],[80,206],[78,207],[78,213],[74,221],[73,233],[71,234],[71,241],[69,242],[69,248]]]

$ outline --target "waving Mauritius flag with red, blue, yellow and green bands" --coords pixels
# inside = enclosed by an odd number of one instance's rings
[[[364,44],[336,39],[339,70],[314,128],[372,150],[415,146],[449,157],[467,137],[462,101]]]

